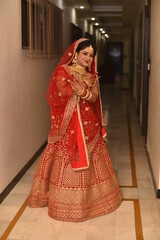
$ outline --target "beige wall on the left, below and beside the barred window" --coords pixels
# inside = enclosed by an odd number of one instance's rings
[[[21,48],[21,0],[0,1],[0,192],[47,139],[46,90],[58,59]]]

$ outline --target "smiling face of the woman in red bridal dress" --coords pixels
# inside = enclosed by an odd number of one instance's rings
[[[77,64],[82,67],[89,67],[92,64],[94,50],[92,46],[86,47],[77,54]]]

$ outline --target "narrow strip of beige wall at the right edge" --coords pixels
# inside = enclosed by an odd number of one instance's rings
[[[160,1],[151,1],[151,74],[147,149],[156,186],[160,189]]]

